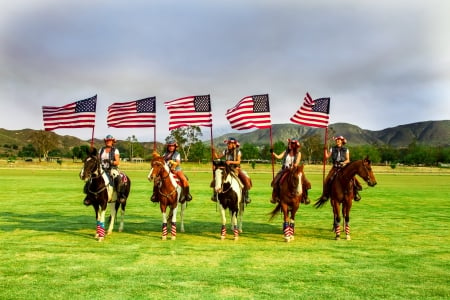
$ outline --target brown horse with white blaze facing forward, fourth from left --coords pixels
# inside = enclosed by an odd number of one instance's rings
[[[284,240],[290,242],[294,239],[295,214],[300,207],[303,197],[302,176],[304,165],[290,168],[279,181],[279,199],[277,206],[271,212],[272,220],[280,210],[283,211]]]

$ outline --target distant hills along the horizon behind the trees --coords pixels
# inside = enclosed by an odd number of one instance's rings
[[[37,130],[7,130],[0,128],[0,152],[7,153],[11,147],[22,149],[31,143],[31,137]],[[90,141],[80,140],[79,138],[64,135],[57,137],[58,148],[64,152],[71,148],[81,145],[89,145]],[[324,129],[299,126],[296,124],[274,124],[272,126],[273,142],[286,141],[288,138],[298,138],[300,140],[313,135],[324,135]],[[258,129],[246,133],[230,133],[219,136],[214,139],[214,144],[222,144],[228,137],[235,137],[241,144],[250,143],[254,145],[267,145],[270,141],[269,129]],[[386,128],[379,131],[361,129],[358,126],[347,123],[336,123],[329,126],[329,135],[343,135],[347,138],[350,145],[390,145],[392,147],[407,147],[412,142],[429,146],[450,146],[450,120],[444,121],[426,121],[400,125],[392,128]],[[125,141],[118,141],[118,144]],[[94,144],[98,147],[103,145],[102,140],[96,139]],[[148,151],[153,149],[153,142],[141,143]],[[160,143],[158,143],[159,145]]]

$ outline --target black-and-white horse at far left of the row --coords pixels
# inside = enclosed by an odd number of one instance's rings
[[[115,218],[119,207],[121,212],[119,232],[122,232],[124,227],[125,207],[131,189],[130,178],[126,174],[119,172],[119,175],[114,178],[117,187],[117,191],[114,191],[105,171],[100,165],[97,149],[92,148],[83,161],[80,179],[86,182],[84,186],[86,197],[83,202],[86,206],[92,205],[94,207],[95,218],[97,219],[97,232],[95,238],[101,242],[105,237],[105,215],[108,204],[110,206],[110,217],[107,234],[109,235],[113,232]]]

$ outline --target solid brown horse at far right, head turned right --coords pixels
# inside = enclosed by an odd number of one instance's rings
[[[342,216],[344,218],[344,230],[347,240],[350,237],[350,209],[352,208],[354,196],[354,177],[360,176],[370,187],[377,184],[375,175],[372,171],[372,162],[369,157],[362,160],[353,161],[337,172],[334,179],[330,183],[330,202],[333,208],[333,231],[339,240],[341,235],[341,216],[340,206],[342,205]],[[317,200],[314,204],[316,208],[322,207],[327,200]]]

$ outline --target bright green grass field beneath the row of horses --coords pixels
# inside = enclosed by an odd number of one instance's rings
[[[281,215],[268,221],[270,166],[246,166],[244,232],[221,241],[211,169],[185,165],[185,233],[161,240],[148,164],[123,164],[133,182],[125,229],[99,243],[81,164],[0,163],[0,299],[450,298],[449,170],[376,167],[378,185],[352,208],[351,241],[334,240],[327,204],[302,206],[286,243]],[[305,172],[316,199],[321,168]]]

